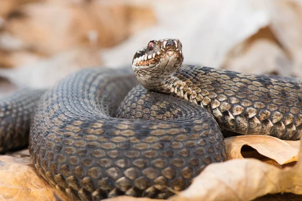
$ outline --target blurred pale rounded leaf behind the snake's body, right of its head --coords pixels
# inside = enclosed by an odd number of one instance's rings
[[[257,39],[243,42],[230,50],[222,64],[223,69],[248,74],[278,73],[289,76],[292,62],[274,41]]]

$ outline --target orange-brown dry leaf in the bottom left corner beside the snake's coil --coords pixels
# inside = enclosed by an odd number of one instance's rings
[[[48,184],[34,167],[29,157],[0,156],[0,200],[54,200],[70,199]]]

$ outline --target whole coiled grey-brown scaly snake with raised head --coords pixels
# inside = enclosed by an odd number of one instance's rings
[[[302,82],[184,65],[179,39],[131,66],[74,72],[0,100],[0,151],[28,146],[37,173],[74,200],[168,198],[225,157],[221,129],[297,140]]]

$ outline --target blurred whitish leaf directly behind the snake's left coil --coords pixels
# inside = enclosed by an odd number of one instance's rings
[[[40,59],[34,64],[12,69],[0,68],[0,75],[20,87],[48,88],[70,73],[92,66],[102,66],[98,51],[81,48]]]

